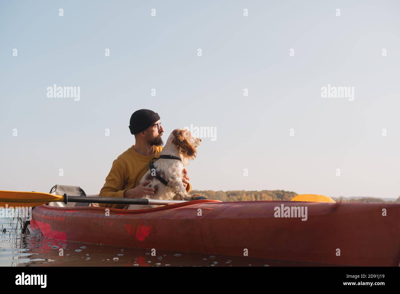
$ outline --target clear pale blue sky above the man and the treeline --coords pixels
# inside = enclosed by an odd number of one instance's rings
[[[216,128],[188,166],[194,189],[397,198],[399,10],[398,1],[0,1],[0,190],[98,194],[134,144],[131,114],[148,108],[164,140],[190,124]],[[80,87],[80,100],[48,98],[54,84]],[[354,100],[322,98],[328,84],[354,87]]]

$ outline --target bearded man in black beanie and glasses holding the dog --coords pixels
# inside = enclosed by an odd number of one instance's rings
[[[154,195],[154,188],[146,187],[150,180],[139,185],[146,174],[150,160],[159,157],[162,150],[162,133],[158,113],[140,109],[130,117],[130,133],[135,136],[135,144],[122,153],[114,162],[106,183],[100,190],[100,197],[142,198],[145,195]],[[186,169],[183,170],[183,186],[189,193],[192,186]],[[123,208],[124,204],[99,204],[101,207]]]

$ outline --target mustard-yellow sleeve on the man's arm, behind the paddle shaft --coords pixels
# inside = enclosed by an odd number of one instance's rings
[[[106,177],[106,183],[103,188],[100,190],[100,197],[116,197],[116,198],[124,198],[124,184],[126,183],[124,169],[121,164],[114,160],[112,162],[112,167],[108,176]],[[100,207],[106,208],[120,208],[124,207],[124,204],[102,204],[99,203]]]

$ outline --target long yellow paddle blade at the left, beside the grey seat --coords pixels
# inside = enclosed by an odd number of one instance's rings
[[[0,208],[39,206],[49,202],[62,202],[64,197],[41,192],[0,191]]]

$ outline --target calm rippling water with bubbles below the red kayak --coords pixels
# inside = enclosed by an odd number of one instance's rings
[[[22,234],[14,218],[0,218],[0,266],[315,266],[258,258],[100,246]],[[5,232],[3,230],[5,229]],[[59,249],[64,248],[64,256]]]

